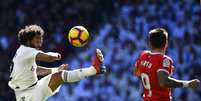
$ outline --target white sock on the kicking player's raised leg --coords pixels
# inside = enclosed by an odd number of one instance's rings
[[[93,66],[90,66],[88,68],[81,68],[72,71],[64,70],[61,73],[61,77],[64,82],[76,82],[95,74],[96,69]]]

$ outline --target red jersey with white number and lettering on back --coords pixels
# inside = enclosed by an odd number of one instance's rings
[[[135,68],[139,70],[139,74],[143,83],[144,101],[170,101],[171,89],[160,87],[157,78],[158,71],[167,72],[169,75],[173,71],[173,61],[170,57],[162,53],[152,53],[143,51],[136,61]]]

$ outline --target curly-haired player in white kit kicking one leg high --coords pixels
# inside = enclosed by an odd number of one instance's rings
[[[103,55],[96,49],[92,65],[87,68],[67,71],[67,64],[57,68],[38,66],[36,61],[53,62],[61,59],[56,52],[43,52],[43,29],[38,25],[29,25],[18,33],[20,47],[10,66],[8,85],[14,90],[17,101],[45,101],[59,91],[62,83],[76,82],[88,76],[106,72]],[[47,75],[38,80],[37,75]]]

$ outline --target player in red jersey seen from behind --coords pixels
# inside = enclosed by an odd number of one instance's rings
[[[144,101],[171,101],[171,88],[197,88],[198,79],[176,80],[171,77],[174,66],[170,57],[165,55],[168,46],[168,33],[163,28],[149,32],[150,51],[142,51],[135,63],[134,75],[143,83]]]

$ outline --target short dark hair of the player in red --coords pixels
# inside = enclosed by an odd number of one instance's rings
[[[152,48],[163,48],[168,39],[168,33],[164,28],[155,28],[149,32],[149,42]]]

